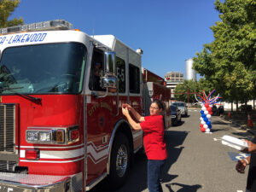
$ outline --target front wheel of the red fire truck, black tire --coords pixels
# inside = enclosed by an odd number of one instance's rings
[[[118,188],[125,182],[130,167],[130,147],[127,137],[119,133],[113,142],[109,180],[111,188]]]

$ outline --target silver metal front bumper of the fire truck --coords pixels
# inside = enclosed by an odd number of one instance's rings
[[[49,176],[0,172],[0,192],[80,192],[82,188],[81,173]]]

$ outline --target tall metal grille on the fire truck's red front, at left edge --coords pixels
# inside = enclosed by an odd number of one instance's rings
[[[15,152],[15,104],[0,104],[0,153]]]

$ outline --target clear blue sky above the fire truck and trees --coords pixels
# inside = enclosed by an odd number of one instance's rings
[[[185,74],[185,60],[213,41],[215,0],[20,0],[9,19],[64,19],[89,35],[113,34],[143,49],[143,67],[164,77]]]

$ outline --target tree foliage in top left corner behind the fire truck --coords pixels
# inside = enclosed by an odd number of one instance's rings
[[[8,26],[18,26],[23,24],[23,19],[8,20],[9,16],[18,7],[19,0],[0,0],[0,28]]]

